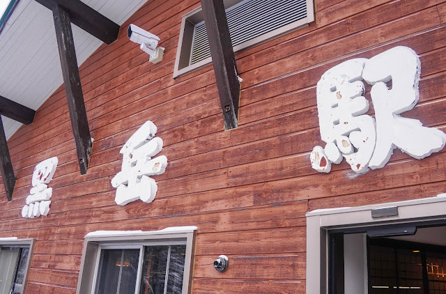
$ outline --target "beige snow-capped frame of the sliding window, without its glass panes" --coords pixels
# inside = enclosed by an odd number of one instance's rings
[[[128,231],[125,234],[108,231],[107,236],[98,237],[86,235],[76,293],[95,293],[95,287],[98,283],[100,255],[103,249],[139,249],[136,293],[142,279],[144,247],[153,245],[186,245],[182,293],[191,293],[196,231],[197,227],[187,226],[161,231]],[[94,261],[94,263],[88,263],[87,261]]]

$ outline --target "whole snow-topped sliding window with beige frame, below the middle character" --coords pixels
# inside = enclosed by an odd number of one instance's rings
[[[196,230],[187,226],[86,235],[77,293],[190,293]]]

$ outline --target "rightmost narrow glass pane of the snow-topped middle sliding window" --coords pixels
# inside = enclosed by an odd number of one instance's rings
[[[167,279],[167,293],[181,294],[183,290],[183,274],[186,255],[186,245],[171,246],[169,278]]]

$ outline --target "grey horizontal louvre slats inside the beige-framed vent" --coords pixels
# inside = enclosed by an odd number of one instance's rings
[[[306,0],[245,0],[226,9],[233,47],[307,17]],[[195,26],[190,64],[210,56],[206,26]]]

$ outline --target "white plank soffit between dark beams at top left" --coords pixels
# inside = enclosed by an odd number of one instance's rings
[[[82,0],[123,24],[147,0]],[[81,65],[102,41],[72,24],[77,63]],[[0,95],[37,110],[63,84],[52,11],[34,0],[20,0],[0,33]],[[9,139],[22,123],[4,116]]]

